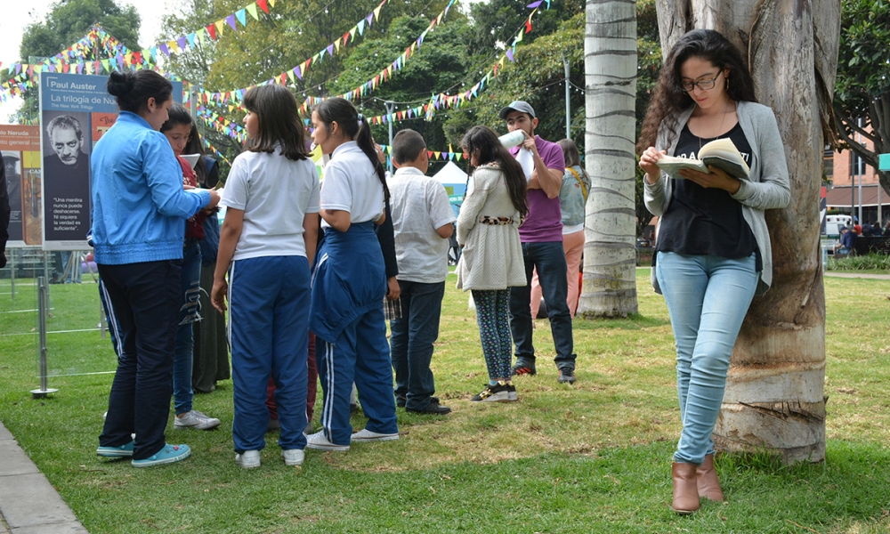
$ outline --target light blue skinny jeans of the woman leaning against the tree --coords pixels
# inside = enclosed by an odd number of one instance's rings
[[[674,461],[699,465],[713,454],[732,346],[754,298],[756,258],[659,252],[661,292],[676,339],[676,389],[683,432]]]

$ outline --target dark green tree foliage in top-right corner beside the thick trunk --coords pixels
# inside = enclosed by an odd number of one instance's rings
[[[841,9],[835,124],[841,146],[877,169],[878,154],[890,152],[890,4],[843,0]],[[890,192],[890,174],[878,175]]]

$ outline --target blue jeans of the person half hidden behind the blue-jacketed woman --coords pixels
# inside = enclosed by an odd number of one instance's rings
[[[191,323],[201,320],[198,297],[201,295],[201,247],[189,240],[182,248],[182,292],[176,353],[173,360],[173,400],[176,415],[191,411],[191,367],[194,365],[195,339]]]

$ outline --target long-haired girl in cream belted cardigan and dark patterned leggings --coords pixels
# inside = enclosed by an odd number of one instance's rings
[[[489,127],[473,126],[461,143],[473,175],[457,216],[457,288],[473,291],[489,383],[473,402],[517,401],[511,378],[509,287],[524,286],[519,225],[529,207],[522,166]]]

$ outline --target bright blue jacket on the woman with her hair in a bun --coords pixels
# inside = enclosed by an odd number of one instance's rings
[[[185,222],[210,193],[182,190],[182,167],[166,136],[121,111],[93,149],[96,263],[182,259]]]

